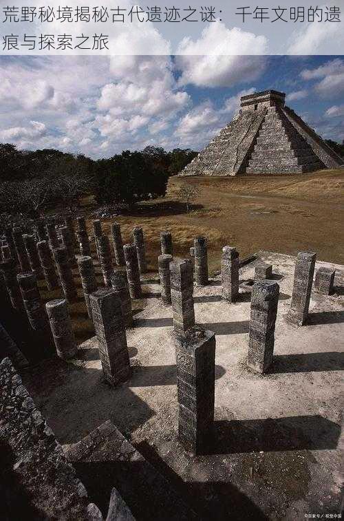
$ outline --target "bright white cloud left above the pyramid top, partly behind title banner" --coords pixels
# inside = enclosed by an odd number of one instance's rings
[[[230,87],[253,81],[265,69],[264,56],[235,56],[235,54],[264,54],[264,36],[227,29],[223,23],[209,25],[200,39],[184,38],[178,47],[175,61],[181,70],[180,85],[193,83],[199,87]],[[209,54],[211,53],[211,54]]]

